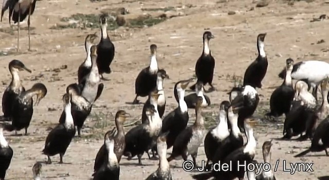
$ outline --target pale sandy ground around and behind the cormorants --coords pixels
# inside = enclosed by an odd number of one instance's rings
[[[291,3],[291,2],[290,2]],[[193,6],[188,6],[188,5]],[[263,88],[258,89],[262,95],[257,110],[259,117],[268,110],[268,101],[273,89],[282,83],[278,73],[285,65],[287,58],[295,62],[302,60],[328,59],[329,20],[310,22],[314,17],[328,12],[329,2],[316,1],[306,3],[296,1],[288,5],[288,1],[269,1],[263,8],[255,7],[257,3],[251,1],[105,1],[92,3],[88,0],[69,1],[51,0],[38,1],[36,10],[31,17],[32,52],[27,51],[27,30],[21,31],[21,52],[9,53],[2,56],[0,66],[3,68],[0,80],[3,82],[1,93],[10,82],[8,63],[13,59],[22,60],[32,73],[20,73],[23,85],[30,88],[36,82],[44,83],[48,94],[34,107],[28,136],[14,136],[14,132],[5,132],[5,136],[14,150],[14,156],[7,171],[6,179],[31,179],[31,167],[35,161],[45,161],[41,154],[44,140],[49,128],[54,127],[62,112],[62,95],[66,86],[77,82],[77,70],[85,59],[84,39],[86,34],[99,29],[50,29],[60,23],[61,17],[72,14],[99,14],[101,10],[125,7],[129,9],[127,16],[137,16],[143,13],[161,14],[163,11],[142,11],[141,8],[177,7],[167,14],[182,14],[149,28],[130,29],[120,27],[108,31],[116,48],[114,62],[111,65],[111,79],[103,82],[103,94],[96,102],[93,111],[85,123],[82,138],[75,138],[64,156],[67,164],[57,164],[59,156],[52,158],[53,164],[43,165],[45,179],[89,179],[93,172],[94,159],[102,145],[103,133],[112,129],[114,115],[118,110],[126,110],[133,117],[126,123],[138,120],[141,116],[142,104],[129,105],[134,99],[134,83],[139,71],[149,64],[149,47],[158,46],[158,64],[165,68],[170,80],[165,81],[167,97],[166,114],[173,110],[177,103],[173,98],[173,85],[178,80],[188,79],[194,74],[194,66],[202,52],[202,34],[209,29],[215,39],[211,41],[211,52],[216,60],[214,85],[217,91],[207,94],[212,106],[205,109],[208,119],[215,119],[218,104],[228,100],[226,94],[233,86],[236,78],[241,78],[246,67],[255,59],[256,37],[258,33],[267,32],[265,51],[269,66],[263,80]],[[181,6],[186,5],[186,6]],[[250,10],[254,7],[253,10]],[[235,14],[228,15],[229,11]],[[8,28],[6,17],[0,28]],[[24,21],[22,27],[26,27]],[[14,27],[16,29],[16,26]],[[0,50],[8,51],[16,47],[16,30],[12,33],[0,32]],[[324,43],[318,44],[320,40]],[[61,68],[67,65],[67,68]],[[208,87],[206,87],[208,88]],[[146,98],[140,98],[142,101]],[[194,110],[189,112],[190,122],[195,120]],[[209,120],[207,123],[214,123]],[[126,127],[128,131],[131,127]],[[272,165],[279,160],[279,167],[275,175],[277,179],[317,179],[319,176],[329,175],[325,153],[311,153],[312,156],[294,158],[293,155],[310,145],[309,141],[280,141],[282,123],[261,124],[254,129],[258,140],[257,156],[262,161],[261,147],[265,140],[273,138]],[[20,133],[23,133],[20,132]],[[170,150],[168,150],[168,153]],[[199,148],[198,164],[205,160],[203,145]],[[283,171],[283,160],[287,163],[314,163],[314,172],[296,172],[291,175]],[[148,160],[143,156],[144,166],[137,166],[137,159],[127,161],[123,157],[120,168],[120,179],[144,179],[157,169],[158,161]],[[174,179],[192,179],[191,174],[181,169],[182,160],[172,161]],[[289,168],[287,164],[287,168]]]

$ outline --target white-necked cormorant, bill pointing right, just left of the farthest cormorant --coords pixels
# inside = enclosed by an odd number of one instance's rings
[[[78,83],[80,84],[83,77],[87,76],[90,72],[90,69],[92,69],[92,57],[91,55],[91,48],[94,44],[95,39],[98,38],[96,32],[95,34],[88,34],[86,37],[86,40],[84,42],[84,47],[87,52],[87,57],[84,60],[84,62],[79,66],[78,69]]]

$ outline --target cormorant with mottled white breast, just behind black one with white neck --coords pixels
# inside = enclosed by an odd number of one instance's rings
[[[86,98],[81,96],[81,89],[79,85],[74,83],[70,84],[66,87],[66,93],[71,96],[71,104],[72,104],[72,117],[74,121],[74,125],[77,127],[78,136],[81,137],[81,129],[84,124],[84,121],[92,111],[92,103],[90,103]],[[65,111],[63,110],[62,115],[60,117],[59,123],[65,122]]]

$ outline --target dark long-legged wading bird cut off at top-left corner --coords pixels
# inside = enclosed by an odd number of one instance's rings
[[[29,50],[31,50],[30,44],[30,16],[33,14],[35,9],[36,0],[4,0],[1,10],[1,22],[5,11],[9,8],[9,25],[11,25],[11,18],[14,24],[18,24],[17,32],[17,52],[20,50],[20,22],[24,21],[26,16],[28,37],[29,37]]]

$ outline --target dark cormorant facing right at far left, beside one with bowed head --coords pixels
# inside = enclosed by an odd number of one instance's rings
[[[25,88],[23,87],[20,80],[19,71],[26,70],[29,73],[32,71],[19,60],[12,60],[8,67],[12,79],[2,96],[2,111],[4,113],[4,120],[11,121],[12,103],[14,102],[16,96],[25,91]]]

